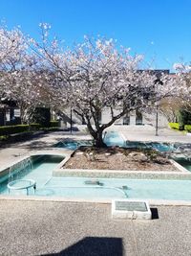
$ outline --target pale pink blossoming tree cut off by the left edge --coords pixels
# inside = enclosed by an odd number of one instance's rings
[[[31,38],[19,28],[0,29],[0,97],[20,108],[21,123],[29,123],[37,105],[48,104],[46,89],[50,72],[42,71],[31,49]]]

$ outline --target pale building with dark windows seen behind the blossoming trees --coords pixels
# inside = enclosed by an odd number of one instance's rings
[[[138,72],[142,72],[142,70],[138,70]],[[159,80],[162,73],[170,74],[169,70],[149,70],[151,74],[157,75]],[[117,114],[117,109],[115,109],[115,114]],[[143,126],[150,125],[156,126],[158,109],[153,111],[153,113],[147,113],[146,111],[132,111],[125,116],[121,117],[115,122],[115,125],[120,126]],[[59,113],[59,116],[63,120],[64,124],[78,124],[84,125],[84,121],[71,109],[65,109],[64,113]],[[72,120],[71,120],[72,118]],[[109,110],[107,106],[103,109],[102,113],[100,113],[99,123],[105,124],[110,121]],[[167,119],[160,113],[158,113],[158,123],[160,127],[166,127],[168,124]],[[16,106],[15,102],[4,101],[2,105],[0,105],[0,126],[5,125],[16,125],[20,124],[20,110]]]

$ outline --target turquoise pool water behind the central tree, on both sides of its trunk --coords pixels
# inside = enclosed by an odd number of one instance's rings
[[[169,143],[158,142],[137,142],[137,141],[125,141],[124,138],[117,131],[108,131],[103,134],[103,140],[108,147],[118,146],[127,149],[155,149],[158,151],[175,151],[176,146]],[[75,151],[80,146],[92,146],[92,141],[74,141],[67,140],[58,142],[54,145],[56,148],[65,148]]]

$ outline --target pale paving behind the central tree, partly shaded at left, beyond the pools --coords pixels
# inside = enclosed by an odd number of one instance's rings
[[[63,138],[73,138],[73,139],[91,139],[89,134],[85,134],[85,126],[77,126],[79,131],[73,132],[71,134],[67,131],[57,131],[52,133],[41,134],[37,138],[33,138],[26,142],[14,143],[10,145],[5,145],[0,148],[0,169],[6,168],[8,163],[14,162],[19,157],[27,156],[30,153],[35,153],[36,151],[53,151],[53,144],[62,140]],[[126,140],[135,141],[159,141],[159,142],[180,142],[180,143],[190,143],[191,136],[187,136],[180,131],[174,131],[169,128],[159,129],[159,136],[155,136],[155,128],[150,126],[112,126],[107,130],[117,130],[126,138]],[[63,154],[67,153],[68,150],[58,149],[57,151]]]

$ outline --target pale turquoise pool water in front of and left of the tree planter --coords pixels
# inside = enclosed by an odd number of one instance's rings
[[[29,191],[30,196],[191,200],[191,179],[55,177],[53,169],[62,160],[63,157],[56,155],[32,156],[33,167],[22,176],[23,179],[32,179],[36,182],[35,191]],[[7,178],[0,178],[1,195],[9,195],[8,183],[9,174]],[[26,190],[12,190],[10,195],[26,195]]]

